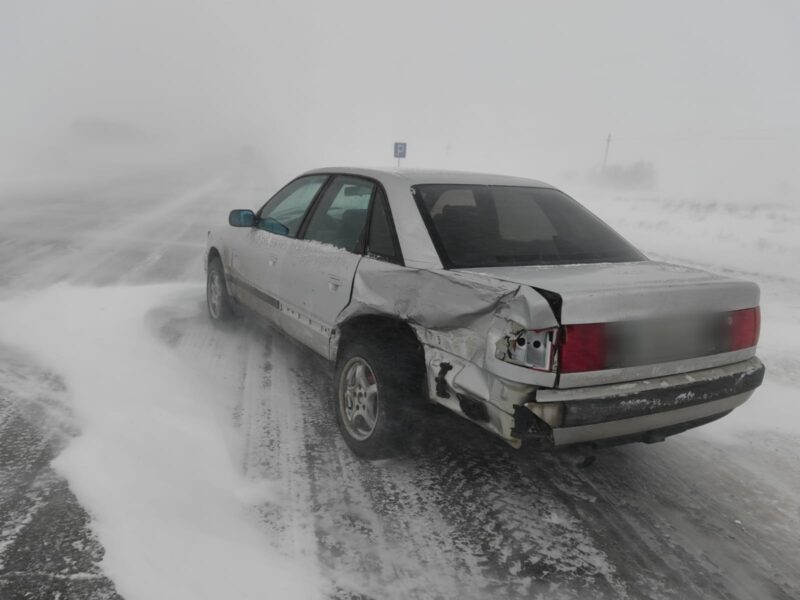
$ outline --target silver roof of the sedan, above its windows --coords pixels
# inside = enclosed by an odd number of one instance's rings
[[[313,169],[303,173],[303,175],[311,175],[315,173],[361,175],[364,177],[377,179],[378,181],[384,183],[392,181],[392,183],[405,183],[408,186],[435,183],[454,183],[468,185],[516,185],[542,188],[553,187],[548,183],[544,183],[543,181],[537,181],[536,179],[528,179],[525,177],[493,175],[490,173],[473,173],[469,171],[440,171],[428,169],[327,167]]]

